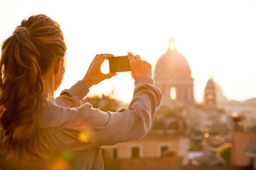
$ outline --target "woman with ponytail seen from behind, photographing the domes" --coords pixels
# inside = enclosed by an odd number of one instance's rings
[[[45,15],[23,20],[3,42],[1,170],[55,169],[60,157],[67,169],[104,169],[100,147],[138,140],[148,132],[161,101],[151,65],[128,53],[134,96],[129,108],[105,113],[80,101],[91,86],[115,75],[100,72],[113,55],[96,55],[85,76],[53,98],[65,72],[66,49],[60,26]]]

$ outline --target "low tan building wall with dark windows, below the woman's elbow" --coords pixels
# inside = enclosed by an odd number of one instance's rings
[[[132,147],[139,148],[139,159],[160,158],[164,154],[171,153],[173,156],[183,158],[183,164],[187,163],[186,154],[188,151],[189,140],[186,135],[146,135],[142,140],[124,142],[113,147],[102,147],[108,159],[113,159],[111,149],[116,149],[115,159],[132,159]],[[164,152],[161,152],[161,147]],[[107,155],[106,155],[107,154]],[[166,156],[168,157],[168,156]]]

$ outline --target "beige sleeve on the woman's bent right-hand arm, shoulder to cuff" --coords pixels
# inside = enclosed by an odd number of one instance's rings
[[[134,96],[128,108],[116,113],[105,113],[88,105],[80,108],[95,147],[139,140],[149,131],[161,102],[161,92],[149,77],[140,77],[134,84]]]

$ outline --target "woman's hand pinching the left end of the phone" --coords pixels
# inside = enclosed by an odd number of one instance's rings
[[[100,54],[96,55],[92,60],[89,69],[87,70],[85,77],[82,78],[82,81],[90,88],[91,86],[100,83],[105,79],[110,79],[111,77],[117,75],[116,73],[103,74],[100,70],[100,67],[104,60],[107,60],[114,55],[110,54]]]

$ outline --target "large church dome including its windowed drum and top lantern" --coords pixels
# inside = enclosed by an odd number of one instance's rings
[[[174,38],[170,39],[168,50],[156,62],[154,81],[164,98],[183,104],[194,103],[191,69],[186,58],[176,49]]]

